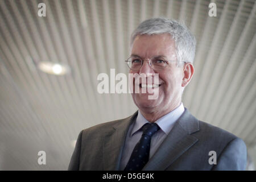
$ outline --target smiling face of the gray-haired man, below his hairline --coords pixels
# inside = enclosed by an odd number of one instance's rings
[[[144,59],[151,57],[164,56],[165,60],[177,61],[175,41],[171,39],[170,34],[159,35],[138,35],[133,43],[131,55],[137,55]],[[143,62],[142,68],[139,71],[130,69],[130,73],[152,74],[152,83],[154,84],[154,74],[159,73],[159,88],[158,98],[148,100],[149,93],[132,93],[135,105],[139,109],[147,112],[161,112],[168,110],[180,104],[183,87],[181,86],[183,78],[183,67],[177,67],[176,62],[169,62],[161,71],[154,71],[147,61]],[[133,82],[135,88],[135,81]],[[157,92],[157,89],[156,89]]]

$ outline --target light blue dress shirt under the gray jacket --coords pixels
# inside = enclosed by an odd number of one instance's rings
[[[179,119],[184,110],[185,109],[183,103],[181,102],[179,107],[177,107],[175,110],[155,121],[160,129],[151,138],[149,158],[151,158],[155,154],[156,150],[163,142],[163,140],[167,137],[168,133],[170,133],[172,127],[174,127],[175,122],[177,121],[177,119]],[[146,118],[143,117],[143,115],[139,111],[136,121],[133,122],[133,124],[130,126],[126,136],[125,146],[123,148],[123,154],[119,168],[120,170],[125,169],[135,145],[141,139],[142,131],[139,131],[139,129],[141,129],[141,127],[146,123],[149,122]]]

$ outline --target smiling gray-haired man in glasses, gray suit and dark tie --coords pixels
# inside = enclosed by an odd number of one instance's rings
[[[156,76],[135,82],[138,111],[81,131],[69,170],[245,170],[242,139],[197,120],[181,96],[194,73],[196,40],[185,25],[166,18],[142,22],[131,36],[130,73]],[[158,93],[148,99],[151,88]]]

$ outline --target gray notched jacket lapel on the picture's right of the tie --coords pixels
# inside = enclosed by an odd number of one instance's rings
[[[198,120],[185,109],[174,128],[142,170],[166,169],[197,142],[198,139],[190,134],[199,130]]]

